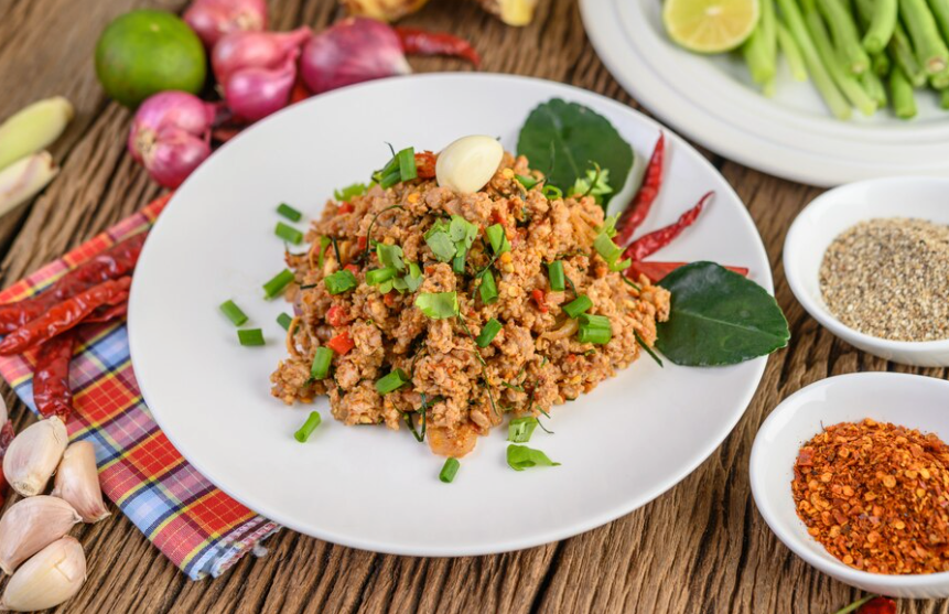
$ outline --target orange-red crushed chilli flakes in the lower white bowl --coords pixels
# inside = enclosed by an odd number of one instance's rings
[[[791,493],[811,537],[854,569],[949,571],[949,445],[932,433],[826,427],[801,446]]]

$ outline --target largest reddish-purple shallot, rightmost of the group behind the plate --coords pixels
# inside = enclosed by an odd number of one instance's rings
[[[395,30],[367,18],[344,19],[310,39],[300,71],[314,94],[412,72]]]

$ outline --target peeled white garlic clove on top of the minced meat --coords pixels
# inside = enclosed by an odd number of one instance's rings
[[[497,139],[479,134],[462,137],[439,153],[435,177],[442,187],[472,194],[490,181],[502,158],[504,148]]]

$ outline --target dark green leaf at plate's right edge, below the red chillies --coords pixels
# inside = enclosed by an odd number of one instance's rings
[[[734,365],[785,347],[784,313],[764,288],[715,265],[693,262],[659,282],[672,293],[656,347],[677,365]]]

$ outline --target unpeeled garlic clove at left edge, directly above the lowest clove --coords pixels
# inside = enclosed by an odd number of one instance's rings
[[[67,502],[40,495],[20,499],[0,518],[0,569],[17,567],[53,543],[82,518]]]

